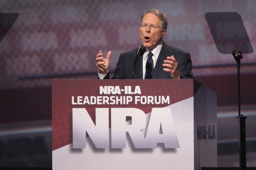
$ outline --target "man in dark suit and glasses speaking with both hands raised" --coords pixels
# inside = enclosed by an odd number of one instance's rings
[[[167,30],[167,18],[159,10],[146,10],[141,15],[140,39],[146,52],[138,58],[135,67],[135,79],[144,78],[193,78],[192,62],[188,52],[168,46],[162,39]],[[120,54],[114,79],[132,79],[132,67],[138,49]],[[102,51],[96,55],[98,78],[109,79],[111,51],[107,58]],[[152,69],[151,69],[152,66]]]

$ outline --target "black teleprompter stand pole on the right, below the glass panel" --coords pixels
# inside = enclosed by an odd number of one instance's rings
[[[237,61],[237,71],[238,71],[238,116],[239,119],[239,170],[246,170],[246,139],[245,139],[245,119],[244,115],[240,112],[240,62],[243,58],[242,51],[240,50],[238,54],[233,50],[232,55]]]

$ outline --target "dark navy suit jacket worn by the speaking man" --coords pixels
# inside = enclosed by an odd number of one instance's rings
[[[121,53],[117,62],[117,68],[114,71],[114,76],[111,79],[132,79],[132,67],[136,55],[136,49]],[[179,48],[168,46],[163,42],[163,46],[159,53],[152,78],[172,78],[169,72],[163,71],[164,60],[168,56],[174,56],[178,62],[178,68],[181,72],[181,78],[194,78],[191,70],[192,62],[190,54]],[[139,56],[134,71],[134,79],[143,79],[142,71],[143,57]],[[106,74],[104,79],[109,79],[109,73]]]

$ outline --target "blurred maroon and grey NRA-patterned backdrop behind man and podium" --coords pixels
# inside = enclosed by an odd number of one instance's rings
[[[0,43],[0,166],[52,166],[51,80],[95,79],[99,50],[112,51],[113,71],[121,52],[141,44],[140,14],[151,8],[167,16],[164,41],[188,51],[195,79],[217,93],[218,166],[239,166],[236,61],[217,51],[204,15],[238,12],[255,49],[256,1],[0,2],[0,12],[20,14]],[[256,52],[244,54],[240,72],[247,166],[255,167]]]

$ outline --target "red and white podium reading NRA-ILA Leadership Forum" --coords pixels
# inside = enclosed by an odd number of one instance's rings
[[[53,80],[54,169],[217,167],[217,96],[193,79]]]

